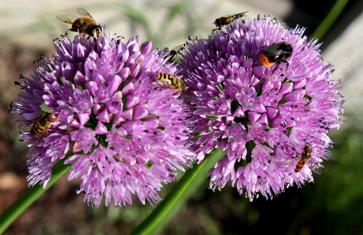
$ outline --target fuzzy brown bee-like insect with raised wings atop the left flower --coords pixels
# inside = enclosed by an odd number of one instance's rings
[[[67,16],[60,15],[57,19],[71,24],[72,27],[67,29],[65,35],[67,35],[68,30],[83,34],[88,34],[90,37],[94,37],[97,40],[102,33],[102,28],[97,24],[93,17],[83,8],[78,8],[77,12],[82,17],[77,16]]]

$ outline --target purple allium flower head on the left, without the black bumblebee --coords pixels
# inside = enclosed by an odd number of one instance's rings
[[[111,34],[110,34],[111,35]],[[171,182],[179,164],[190,166],[191,122],[185,104],[170,89],[152,82],[161,71],[163,55],[139,37],[126,44],[121,37],[94,41],[76,36],[54,41],[57,54],[41,58],[31,78],[21,76],[21,99],[12,104],[16,121],[29,127],[41,115],[57,119],[47,133],[21,131],[33,147],[28,154],[29,186],[44,187],[57,160],[73,164],[69,180],[81,177],[77,193],[89,205],[131,204],[131,194],[142,203],[159,201],[161,182]],[[175,71],[175,65],[166,65]]]

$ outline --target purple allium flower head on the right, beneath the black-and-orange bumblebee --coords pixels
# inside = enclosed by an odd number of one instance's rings
[[[258,192],[273,197],[285,185],[312,180],[310,162],[295,173],[281,163],[311,144],[315,162],[327,160],[331,128],[342,123],[339,82],[331,80],[332,65],[323,61],[317,40],[307,41],[304,28],[284,29],[270,17],[236,19],[208,39],[189,41],[182,74],[189,90],[185,102],[194,109],[197,159],[220,147],[227,155],[210,169],[210,187],[229,180],[252,200]],[[287,42],[287,62],[265,67],[262,50]],[[287,69],[287,70],[286,70]]]

